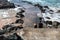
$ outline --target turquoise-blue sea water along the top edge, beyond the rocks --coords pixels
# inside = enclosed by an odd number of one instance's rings
[[[21,3],[21,1],[28,1],[33,4],[39,3],[42,6],[51,6],[51,7],[57,7],[60,8],[60,0],[8,0],[12,3]]]

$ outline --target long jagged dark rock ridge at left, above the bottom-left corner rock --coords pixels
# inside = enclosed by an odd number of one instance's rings
[[[11,32],[13,30],[17,31],[17,30],[22,29],[22,28],[23,27],[20,27],[20,26],[5,25],[1,33],[5,32],[5,31],[6,32]]]

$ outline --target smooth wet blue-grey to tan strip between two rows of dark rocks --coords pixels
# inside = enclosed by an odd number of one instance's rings
[[[24,26],[33,27],[34,23],[38,23],[37,13],[40,13],[38,7],[27,3],[20,3],[20,6],[25,8]]]

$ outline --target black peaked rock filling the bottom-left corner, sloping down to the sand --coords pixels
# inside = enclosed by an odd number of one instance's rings
[[[0,35],[0,40],[23,40],[23,39],[16,33],[13,33],[12,35],[9,34],[8,36]]]

